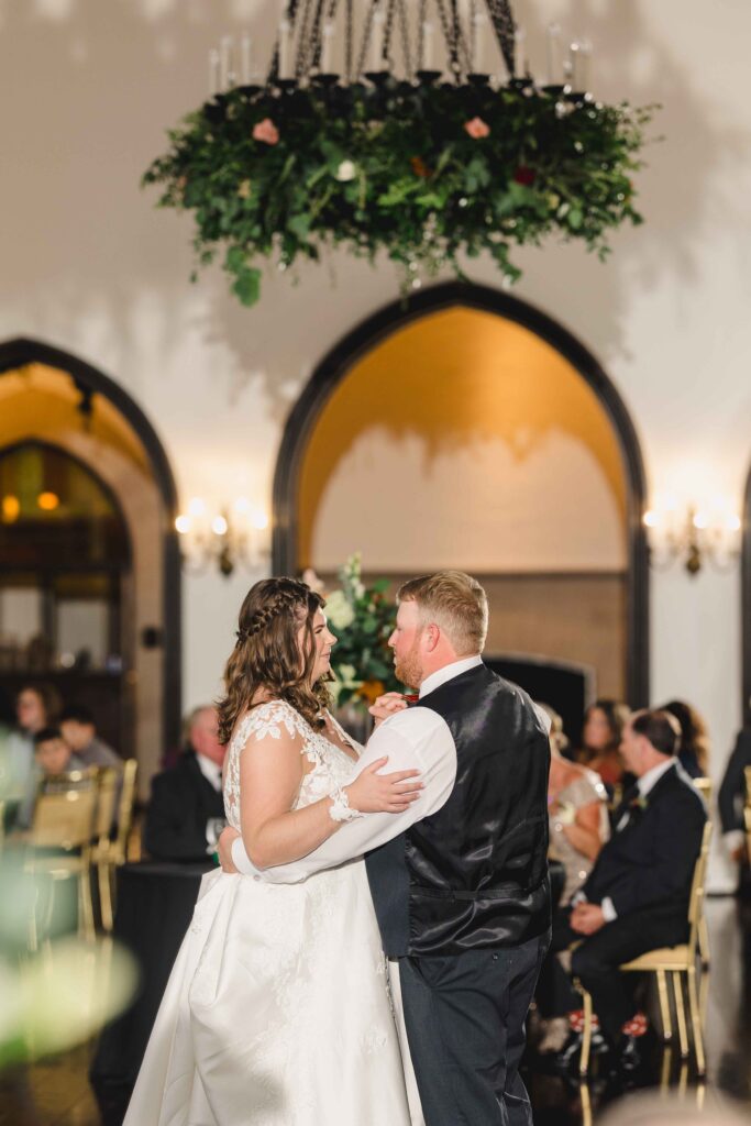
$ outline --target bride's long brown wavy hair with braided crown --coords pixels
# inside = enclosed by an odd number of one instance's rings
[[[297,579],[261,579],[240,608],[238,641],[224,669],[224,697],[217,701],[218,734],[230,742],[239,716],[256,707],[259,689],[267,699],[284,699],[311,724],[323,726],[330,704],[325,683],[311,682],[315,663],[313,618],[325,606],[321,595]],[[303,645],[297,640],[304,625]]]

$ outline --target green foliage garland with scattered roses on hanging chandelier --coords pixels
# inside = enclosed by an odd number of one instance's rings
[[[193,212],[198,265],[222,250],[245,305],[262,259],[285,270],[336,245],[385,251],[406,291],[445,265],[463,276],[461,252],[515,280],[513,245],[555,233],[604,258],[613,229],[642,222],[633,175],[653,108],[531,80],[239,87],[172,129],[143,179]]]

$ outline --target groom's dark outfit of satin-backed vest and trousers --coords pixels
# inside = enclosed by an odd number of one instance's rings
[[[547,735],[529,698],[482,664],[415,706],[448,724],[456,783],[366,860],[426,1124],[530,1126],[518,1069],[549,942]]]

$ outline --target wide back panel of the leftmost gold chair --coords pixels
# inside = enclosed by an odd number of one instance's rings
[[[95,775],[96,771],[80,770],[42,784],[28,838],[33,848],[88,849],[97,810]]]

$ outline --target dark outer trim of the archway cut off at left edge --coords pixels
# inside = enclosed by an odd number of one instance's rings
[[[181,662],[182,610],[180,601],[181,571],[175,518],[178,495],[175,476],[164,447],[138,404],[114,379],[98,368],[41,340],[18,337],[0,342],[0,376],[27,364],[45,364],[70,375],[77,383],[107,399],[133,427],[146,452],[163,512],[162,593],[164,606],[164,683],[163,738],[166,747],[179,747],[181,741]],[[137,641],[136,641],[137,643]]]

